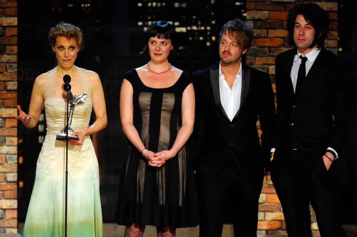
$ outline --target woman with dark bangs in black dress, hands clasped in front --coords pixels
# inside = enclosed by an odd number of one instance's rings
[[[175,28],[165,21],[146,32],[151,60],[124,76],[120,118],[129,139],[119,186],[116,221],[125,236],[142,236],[154,225],[157,236],[198,224],[192,163],[186,144],[193,130],[195,95],[190,75],[167,57]]]

